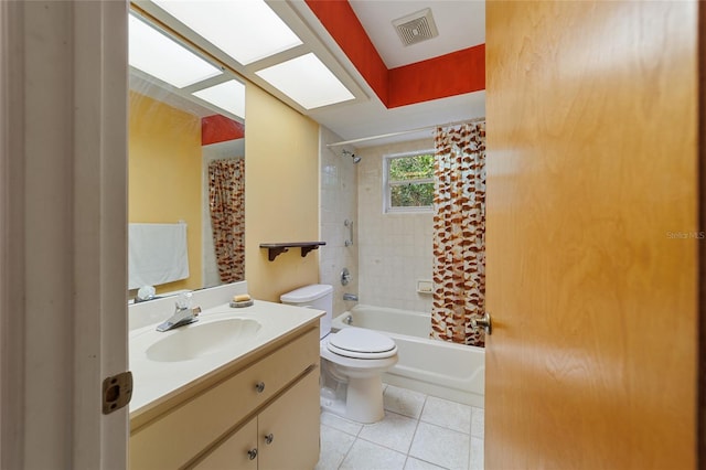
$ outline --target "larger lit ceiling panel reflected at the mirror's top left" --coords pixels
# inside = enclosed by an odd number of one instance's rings
[[[222,72],[161,31],[130,14],[129,63],[135,68],[176,88],[192,85]]]

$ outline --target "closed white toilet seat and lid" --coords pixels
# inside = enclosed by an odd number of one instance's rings
[[[334,354],[353,359],[386,359],[397,354],[392,338],[355,327],[330,334],[327,348]]]

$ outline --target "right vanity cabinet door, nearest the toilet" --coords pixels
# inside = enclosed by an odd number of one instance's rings
[[[258,469],[314,468],[320,414],[317,367],[258,416]]]

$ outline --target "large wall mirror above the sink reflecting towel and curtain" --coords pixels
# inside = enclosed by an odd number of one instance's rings
[[[243,280],[245,85],[136,12],[129,35],[129,298]]]

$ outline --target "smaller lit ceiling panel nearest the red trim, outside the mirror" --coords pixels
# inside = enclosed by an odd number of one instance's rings
[[[313,53],[263,68],[256,74],[306,109],[355,98]]]

